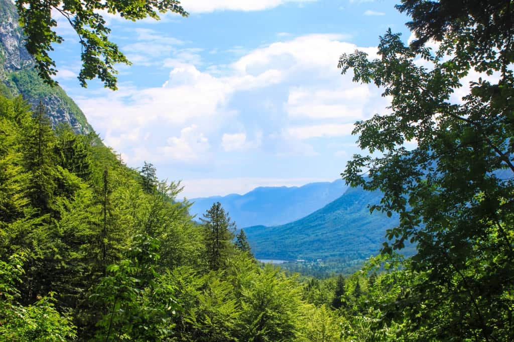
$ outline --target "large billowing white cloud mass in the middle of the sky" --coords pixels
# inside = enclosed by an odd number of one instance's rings
[[[352,75],[340,75],[341,53],[361,49],[371,58],[376,54],[376,48],[360,48],[345,38],[299,36],[209,68],[194,58],[175,60],[160,86],[120,84],[117,92],[88,92],[77,102],[106,144],[128,161],[194,164],[209,154],[219,159],[219,153],[248,150],[315,156],[310,138],[349,135],[356,119],[388,103],[373,85],[357,85]],[[208,53],[175,43],[175,54]]]

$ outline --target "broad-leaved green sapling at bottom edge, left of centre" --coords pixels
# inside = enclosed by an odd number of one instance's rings
[[[174,289],[160,281],[155,270],[159,258],[157,239],[137,236],[130,259],[109,265],[109,274],[100,279],[95,298],[106,313],[98,321],[98,340],[159,341],[171,333],[171,316],[180,307]]]

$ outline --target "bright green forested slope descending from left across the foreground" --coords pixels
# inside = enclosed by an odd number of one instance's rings
[[[0,133],[0,340],[371,334],[355,315],[383,291],[375,283],[304,282],[260,265],[219,203],[197,224],[151,164],[138,172],[92,134],[52,130],[44,107],[21,97],[0,96]]]

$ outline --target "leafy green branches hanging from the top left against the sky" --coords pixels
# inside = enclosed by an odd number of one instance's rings
[[[82,68],[78,77],[80,84],[86,87],[89,79],[98,77],[106,88],[113,90],[117,89],[115,64],[130,64],[130,61],[109,40],[111,29],[105,26],[105,14],[102,12],[131,21],[146,17],[159,19],[159,13],[165,12],[188,15],[177,0],[16,0],[16,6],[27,36],[27,50],[34,57],[39,75],[45,82],[54,84],[52,76],[57,73],[56,63],[48,52],[53,50],[52,44],[63,42],[63,37],[55,30],[57,20],[54,15],[57,14],[64,16],[79,37],[82,47]]]

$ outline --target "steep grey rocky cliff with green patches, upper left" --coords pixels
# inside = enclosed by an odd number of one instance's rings
[[[22,95],[32,105],[41,101],[52,124],[70,125],[77,133],[87,134],[93,128],[84,113],[59,86],[43,83],[34,62],[24,46],[16,8],[11,0],[0,0],[0,93]]]

